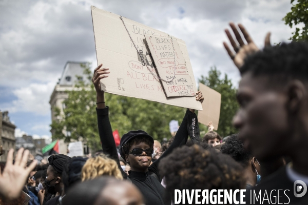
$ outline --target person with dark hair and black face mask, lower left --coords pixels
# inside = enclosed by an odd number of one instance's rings
[[[47,177],[44,181],[45,191],[53,195],[59,192],[60,195],[51,198],[46,202],[46,205],[59,204],[60,197],[65,195],[62,172],[68,159],[70,159],[70,157],[63,154],[51,155],[48,158],[49,166],[47,169]]]

